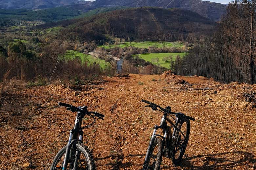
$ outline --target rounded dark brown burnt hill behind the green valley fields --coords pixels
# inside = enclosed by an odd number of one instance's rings
[[[71,41],[103,40],[104,35],[126,40],[194,41],[215,28],[215,22],[195,12],[153,7],[115,10],[60,25],[65,27],[58,37]]]

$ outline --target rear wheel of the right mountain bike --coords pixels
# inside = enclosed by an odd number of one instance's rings
[[[185,153],[188,139],[189,139],[189,133],[190,133],[190,121],[189,119],[182,119],[181,122],[178,124],[178,129],[180,131],[176,130],[174,134],[173,139],[173,153],[172,153],[172,162],[174,165],[178,165],[181,162],[181,159]],[[183,136],[183,134],[184,136]]]

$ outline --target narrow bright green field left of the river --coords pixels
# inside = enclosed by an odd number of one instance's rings
[[[96,62],[101,68],[105,68],[106,66],[110,65],[110,63],[105,62],[105,60],[95,59],[91,55],[79,53],[78,51],[74,50],[67,50],[64,57],[66,59],[75,59],[76,57],[79,57],[83,63],[88,62],[88,64]]]

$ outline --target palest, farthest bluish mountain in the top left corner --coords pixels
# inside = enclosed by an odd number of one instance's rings
[[[46,9],[90,3],[90,1],[84,0],[0,0],[0,9]]]

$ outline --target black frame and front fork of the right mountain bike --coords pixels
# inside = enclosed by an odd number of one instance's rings
[[[150,142],[149,142],[149,147],[148,147],[148,150],[147,150],[147,153],[146,153],[146,157],[145,157],[145,161],[144,161],[144,164],[143,164],[143,170],[147,170],[148,167],[148,163],[149,163],[149,157],[150,157],[150,150],[151,148],[153,147],[154,145],[154,141],[156,139],[156,137],[161,137],[164,141],[164,146],[166,146],[168,149],[169,149],[169,152],[172,152],[173,151],[173,138],[174,138],[174,134],[175,132],[178,130],[180,131],[177,126],[178,126],[178,123],[182,121],[182,118],[179,117],[179,116],[176,116],[176,120],[175,120],[175,124],[167,117],[167,114],[164,113],[162,119],[161,119],[161,123],[160,123],[160,126],[157,126],[155,125],[154,127],[154,131],[153,131],[153,134],[152,134],[152,137],[150,139]],[[173,130],[173,133],[171,131],[171,127],[170,126],[167,126],[167,122],[169,122],[173,127],[174,127],[174,130]],[[156,131],[158,129],[162,129],[163,130],[163,136],[162,135],[158,135],[156,134]],[[182,133],[182,132],[181,132]],[[182,133],[182,135],[184,136],[184,134]],[[164,147],[163,146],[163,147]]]

